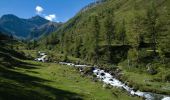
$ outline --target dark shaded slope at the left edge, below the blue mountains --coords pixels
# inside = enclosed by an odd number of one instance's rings
[[[19,59],[28,59],[24,53],[18,51],[20,47],[24,47],[23,43],[15,40],[12,36],[0,32],[0,45],[0,66],[11,68],[22,64]]]

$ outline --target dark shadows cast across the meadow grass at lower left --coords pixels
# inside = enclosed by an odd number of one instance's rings
[[[19,67],[36,68],[27,64]],[[0,64],[0,100],[82,100],[79,94],[44,85],[44,82],[51,81],[16,72]]]

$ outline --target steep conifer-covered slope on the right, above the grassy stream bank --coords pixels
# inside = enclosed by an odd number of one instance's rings
[[[162,61],[170,49],[169,4],[168,0],[106,0],[80,11],[46,42],[60,40],[51,45],[94,63],[126,59],[143,63],[152,57]]]

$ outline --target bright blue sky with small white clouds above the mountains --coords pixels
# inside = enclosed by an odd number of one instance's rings
[[[0,0],[0,16],[15,14],[20,18],[31,18],[40,15],[49,20],[65,22],[94,1],[96,0]]]

